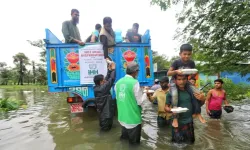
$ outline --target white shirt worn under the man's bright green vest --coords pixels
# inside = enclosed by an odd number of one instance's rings
[[[131,75],[125,75],[125,77],[133,78]],[[116,90],[116,86],[115,86],[114,89]],[[137,105],[141,106],[144,99],[143,99],[142,90],[140,88],[140,83],[138,81],[134,85],[133,92],[134,92],[134,95],[135,95],[135,99],[136,99]],[[119,123],[123,127],[125,127],[126,129],[132,129],[132,128],[134,128],[134,127],[136,127],[138,125],[138,124],[126,124],[126,123],[121,122],[121,121],[119,121]]]

